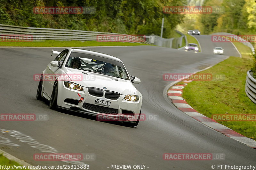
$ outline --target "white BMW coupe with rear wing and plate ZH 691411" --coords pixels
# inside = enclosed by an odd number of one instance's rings
[[[132,83],[123,62],[113,56],[89,50],[67,48],[40,74],[36,98],[50,101],[50,108],[62,108],[97,116],[97,120],[123,121],[137,126],[142,95]]]

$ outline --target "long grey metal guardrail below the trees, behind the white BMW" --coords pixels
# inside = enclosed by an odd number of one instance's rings
[[[34,40],[80,40],[80,41],[96,41],[98,35],[109,36],[132,36],[127,34],[117,34],[109,32],[93,32],[82,30],[66,30],[66,29],[53,29],[53,28],[36,28],[36,27],[22,27],[14,25],[0,24],[0,34],[30,34]],[[136,36],[132,36],[136,37]],[[135,43],[134,40],[123,40],[122,42]],[[149,44],[144,39],[136,37],[136,43]]]

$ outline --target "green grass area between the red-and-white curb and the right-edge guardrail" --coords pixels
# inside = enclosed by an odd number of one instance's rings
[[[245,94],[246,71],[253,64],[250,57],[229,57],[200,73],[211,73],[212,81],[192,81],[184,88],[182,96],[196,111],[211,117],[212,114],[256,114],[254,104]],[[216,76],[225,75],[224,80]],[[256,139],[256,122],[221,121],[230,129]]]

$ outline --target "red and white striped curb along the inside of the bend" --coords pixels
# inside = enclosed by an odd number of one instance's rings
[[[198,113],[194,110],[183,98],[182,98],[182,89],[187,85],[188,82],[191,81],[183,81],[184,84],[177,84],[168,89],[167,95],[172,100],[172,103],[182,112],[187,114],[188,116],[196,119],[197,121],[209,126],[210,128],[222,133],[223,135],[228,136],[229,138],[233,138],[247,146],[250,146],[256,149],[256,141],[250,138],[247,138],[228,127],[219,124],[215,120]]]

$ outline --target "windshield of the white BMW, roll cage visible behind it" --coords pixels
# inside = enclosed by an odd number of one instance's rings
[[[129,80],[123,63],[100,56],[73,52],[68,58],[66,67]]]

